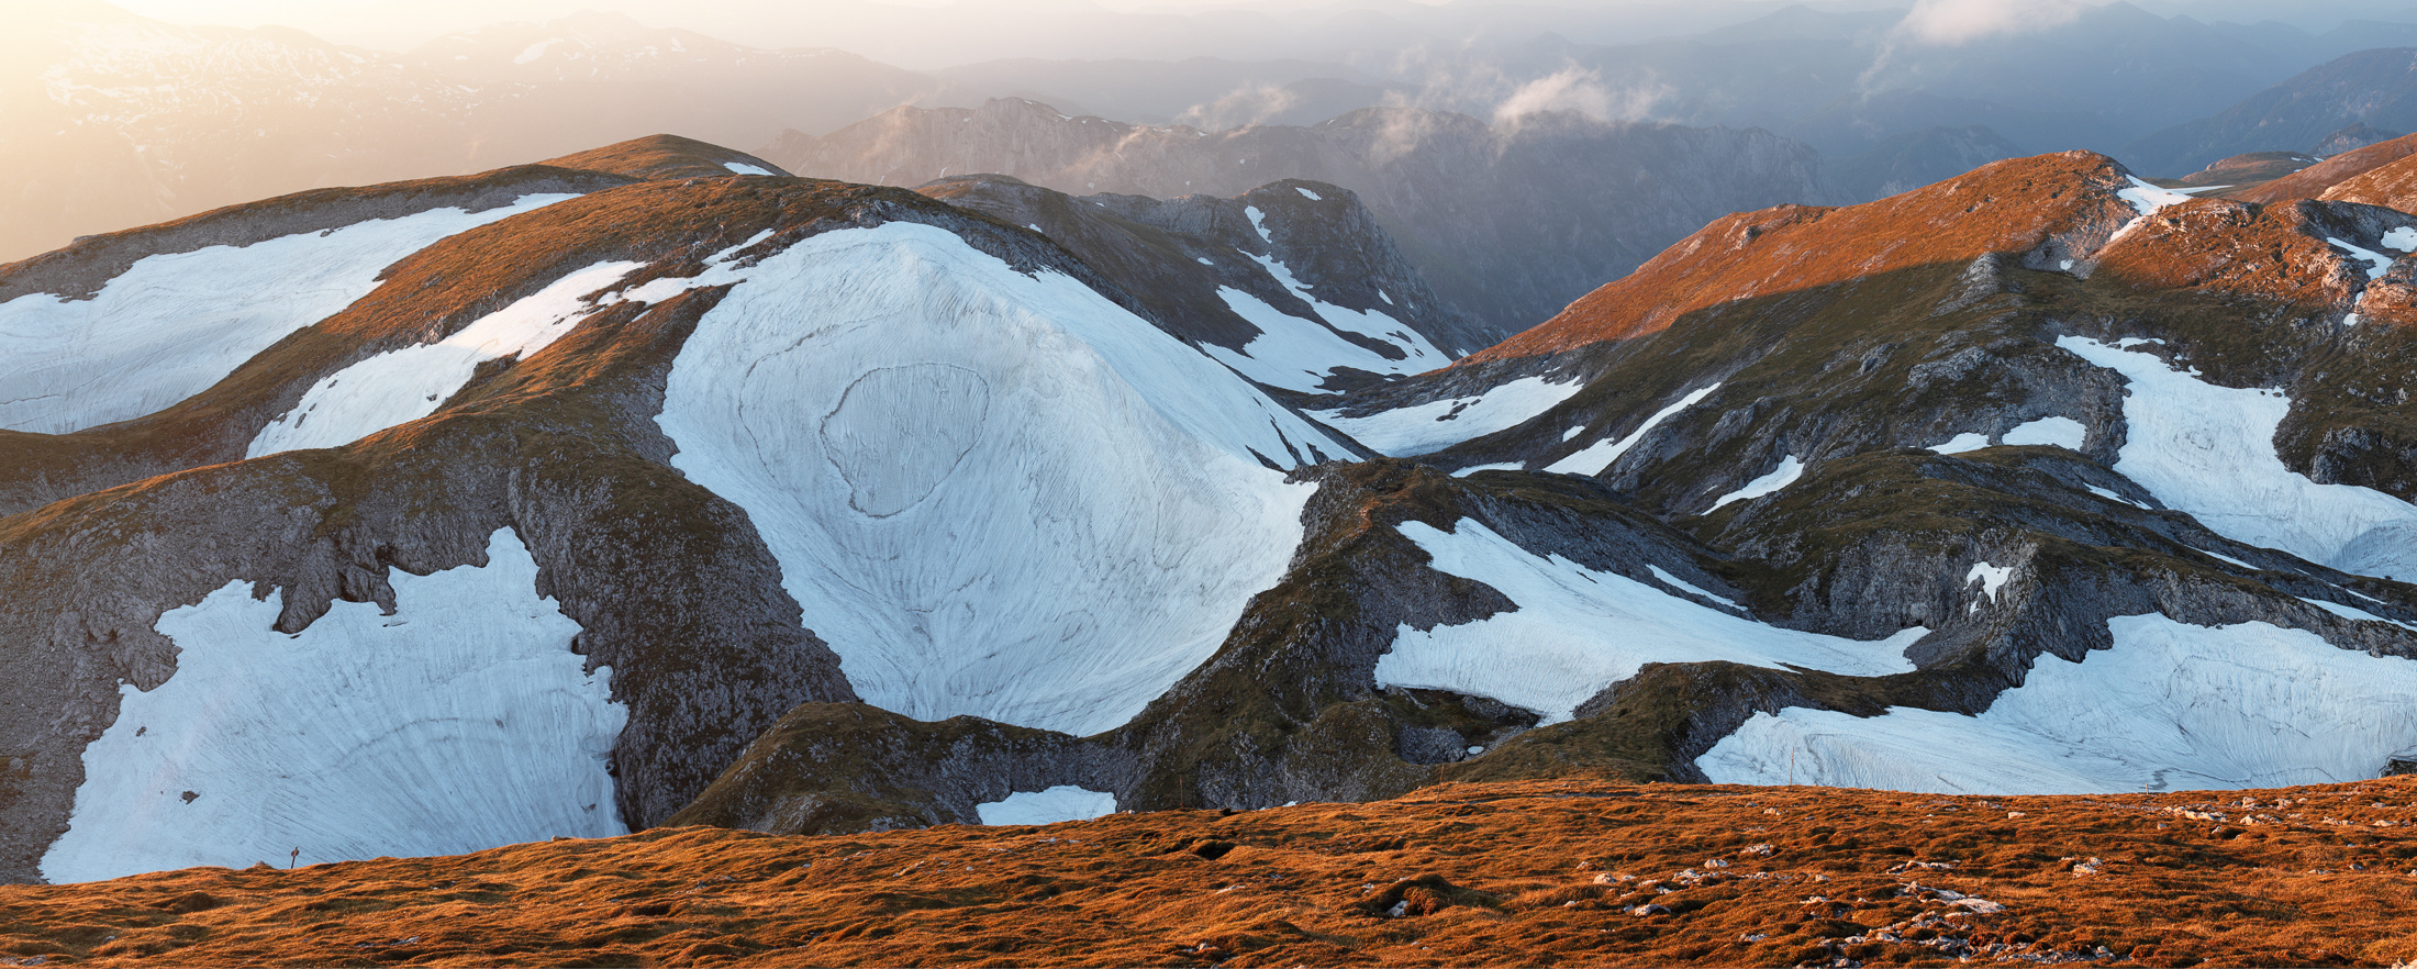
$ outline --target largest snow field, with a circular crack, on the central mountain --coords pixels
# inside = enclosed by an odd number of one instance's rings
[[[914,222],[805,239],[672,362],[657,423],[882,708],[1090,735],[1225,638],[1344,452],[1080,283]],[[655,297],[657,280],[628,297]]]

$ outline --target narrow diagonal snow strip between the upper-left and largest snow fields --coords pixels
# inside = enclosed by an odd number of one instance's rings
[[[312,384],[292,411],[261,428],[244,457],[341,447],[425,418],[469,384],[481,362],[515,353],[527,358],[570,333],[597,309],[585,300],[590,292],[641,266],[628,261],[587,266],[437,343],[387,350],[343,367]]]

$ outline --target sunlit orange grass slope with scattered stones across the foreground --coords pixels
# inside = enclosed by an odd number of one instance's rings
[[[1972,962],[2016,964],[2390,964],[2417,957],[2412,802],[2417,778],[2098,797],[1557,781],[1044,829],[655,829],[0,887],[0,955],[1786,967],[1953,964],[1975,947]]]

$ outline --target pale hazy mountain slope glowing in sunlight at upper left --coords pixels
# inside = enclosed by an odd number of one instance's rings
[[[752,145],[947,85],[839,51],[754,51],[624,17],[503,24],[411,56],[104,2],[12,14],[0,259],[302,188],[459,174],[655,130]],[[749,97],[730,97],[749,92]]]

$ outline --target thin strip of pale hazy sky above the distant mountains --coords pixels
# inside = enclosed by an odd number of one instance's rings
[[[338,43],[404,51],[493,22],[616,10],[752,46],[836,46],[902,68],[989,58],[1269,58],[1361,43],[1557,31],[1581,43],[1641,41],[1750,19],[1796,0],[114,0],[186,24],[283,24]],[[2069,22],[2108,0],[1805,0],[1818,10],[1914,7],[1917,19],[1977,31]],[[2325,31],[2342,19],[2417,19],[2410,0],[2129,0],[2158,14],[2277,19]],[[1370,17],[1373,14],[1373,17]],[[1960,27],[1958,27],[1960,29]],[[1953,31],[1951,31],[1953,34]]]

